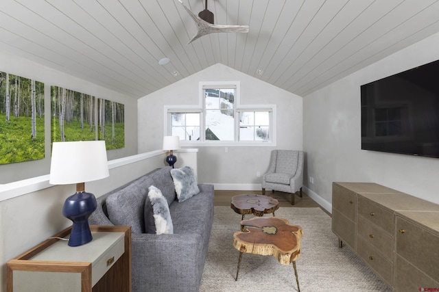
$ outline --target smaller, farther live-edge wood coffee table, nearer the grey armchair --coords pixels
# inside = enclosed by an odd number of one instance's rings
[[[242,215],[241,220],[248,214],[262,217],[264,214],[273,213],[279,209],[278,200],[264,195],[246,194],[233,196],[230,208]]]

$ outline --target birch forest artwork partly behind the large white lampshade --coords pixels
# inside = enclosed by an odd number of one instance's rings
[[[125,146],[124,106],[51,86],[51,141],[105,140],[107,150]]]

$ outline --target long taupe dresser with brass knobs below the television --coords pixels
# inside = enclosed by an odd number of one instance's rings
[[[439,291],[439,205],[376,183],[333,183],[332,229],[394,291]],[[428,291],[428,290],[425,290]]]

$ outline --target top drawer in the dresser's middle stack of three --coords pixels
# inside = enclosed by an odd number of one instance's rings
[[[363,216],[364,219],[376,224],[392,234],[393,226],[393,213],[385,210],[383,207],[362,198],[358,197],[358,214]]]

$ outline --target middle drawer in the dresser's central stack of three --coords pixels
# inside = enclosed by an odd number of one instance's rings
[[[379,250],[389,261],[393,261],[392,237],[384,230],[372,226],[372,224],[359,217],[357,220],[357,237]]]

